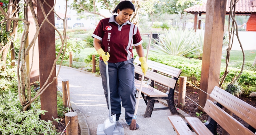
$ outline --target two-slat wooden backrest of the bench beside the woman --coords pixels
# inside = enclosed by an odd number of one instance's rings
[[[140,64],[140,61],[139,61],[138,57],[135,58],[134,63]],[[165,65],[165,64],[157,63],[157,62],[154,62],[154,61],[151,61],[151,60],[147,60],[147,64],[148,64],[149,68],[151,68],[153,70],[156,70],[158,72],[167,74],[169,76],[173,76],[175,78],[172,79],[170,77],[164,76],[162,74],[159,74],[157,72],[150,71],[150,70],[147,71],[147,74],[146,74],[145,77],[147,77],[149,79],[152,79],[156,82],[160,82],[161,84],[174,89],[175,84],[177,82],[177,79],[178,79],[178,77],[180,76],[180,73],[181,73],[180,69],[174,68],[174,67],[171,67],[171,66],[168,66],[168,65]],[[135,73],[138,73],[138,74],[142,75],[141,67],[138,66],[138,65],[134,65],[134,66],[135,66]]]

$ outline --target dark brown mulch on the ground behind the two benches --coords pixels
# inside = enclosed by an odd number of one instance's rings
[[[159,85],[155,85],[160,91],[162,92],[166,92],[166,88],[159,86]],[[179,91],[179,85],[177,84],[175,87],[175,91]],[[195,101],[198,104],[198,99],[199,99],[199,93],[200,90],[197,89],[194,86],[186,86],[186,96],[188,96],[191,100]],[[241,95],[240,97],[238,97],[239,99],[247,102],[248,104],[252,105],[253,107],[256,108],[256,97],[248,97],[248,95]],[[183,110],[184,112],[186,112],[187,114],[189,114],[192,117],[198,117],[203,123],[206,122],[208,120],[208,115],[207,114],[203,114],[198,110],[198,106],[193,102],[189,100],[187,97],[185,99],[185,106],[183,108],[180,108],[181,110]],[[178,103],[178,93],[174,92],[174,103],[175,106],[177,107],[177,103]],[[198,114],[197,114],[198,113]],[[196,115],[197,114],[197,115]],[[200,114],[200,115],[199,115]],[[233,114],[233,117],[239,121],[241,124],[245,124],[245,122],[240,119],[239,117],[237,117],[236,115]],[[217,133],[219,135],[222,134],[222,127],[217,124]]]

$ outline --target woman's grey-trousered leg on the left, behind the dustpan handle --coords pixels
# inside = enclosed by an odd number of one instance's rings
[[[104,89],[107,105],[108,105],[108,87],[106,76],[106,64],[100,60],[100,74],[102,79],[102,86]],[[108,77],[109,77],[109,89],[110,89],[110,101],[111,101],[111,115],[116,114],[116,121],[119,120],[121,115],[121,97],[118,93],[118,74],[117,66],[115,63],[108,63]]]

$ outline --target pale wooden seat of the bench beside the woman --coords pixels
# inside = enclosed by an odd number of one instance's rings
[[[134,79],[134,82],[135,82],[136,89],[139,90],[141,81]],[[143,84],[141,92],[149,97],[168,97],[168,94],[165,94],[165,93],[163,93],[151,86],[148,86],[146,84]]]

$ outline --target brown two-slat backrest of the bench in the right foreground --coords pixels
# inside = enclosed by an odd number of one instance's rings
[[[215,86],[210,97],[220,103],[223,107],[230,110],[236,116],[243,119],[246,123],[256,129],[256,108],[239,98],[229,94],[223,89]],[[212,101],[207,100],[204,111],[214,119],[220,126],[232,135],[249,135],[254,133],[238,122],[235,118],[228,115],[224,110],[219,108]]]

